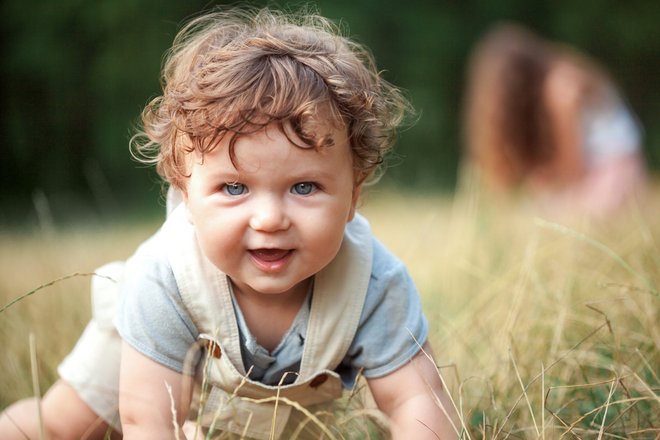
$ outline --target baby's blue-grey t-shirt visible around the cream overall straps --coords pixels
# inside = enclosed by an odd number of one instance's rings
[[[162,230],[129,259],[122,300],[115,325],[121,337],[140,353],[177,372],[183,372],[186,354],[199,332],[186,309],[167,256],[158,249],[167,240]],[[409,361],[428,336],[417,289],[403,263],[373,239],[369,287],[355,338],[336,371],[346,388],[360,370],[367,378],[385,376]],[[277,385],[284,372],[298,371],[305,343],[308,294],[280,344],[268,352],[250,333],[240,308],[234,311],[240,332],[241,354],[250,378]],[[287,376],[290,382],[295,375]]]

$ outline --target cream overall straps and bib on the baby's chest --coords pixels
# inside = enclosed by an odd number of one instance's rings
[[[246,378],[227,276],[202,254],[184,206],[174,210],[165,227],[173,237],[168,258],[181,297],[201,338],[210,341],[203,376],[212,386],[202,394],[204,426],[256,439],[279,438],[292,410],[289,403],[307,407],[341,396],[341,380],[332,370],[355,336],[371,276],[371,232],[365,219],[356,216],[347,226],[337,257],[316,275],[300,371],[293,384],[279,387]]]

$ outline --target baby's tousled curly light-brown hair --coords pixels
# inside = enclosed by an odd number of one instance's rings
[[[285,134],[290,127],[300,147],[331,145],[311,123],[326,106],[334,119],[328,122],[347,129],[361,184],[374,177],[412,111],[366,48],[309,10],[238,7],[192,19],[166,55],[162,87],[131,146],[179,189],[188,176],[185,155],[203,155],[225,135],[232,160],[238,137],[271,123]]]

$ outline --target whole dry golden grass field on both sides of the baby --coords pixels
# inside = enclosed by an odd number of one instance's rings
[[[371,190],[362,212],[409,266],[464,438],[660,438],[660,188],[566,223],[468,187]],[[127,257],[157,224],[0,234],[0,307]],[[0,408],[41,390],[89,317],[89,276],[0,313]]]

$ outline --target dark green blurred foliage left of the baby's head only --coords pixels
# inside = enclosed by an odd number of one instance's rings
[[[203,6],[3,2],[2,205],[24,212],[38,191],[56,218],[94,205],[108,213],[118,199],[131,200],[140,180],[144,188],[144,172],[128,154],[129,130],[158,91],[160,60],[177,23]]]

